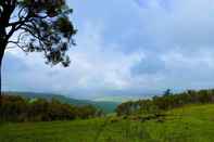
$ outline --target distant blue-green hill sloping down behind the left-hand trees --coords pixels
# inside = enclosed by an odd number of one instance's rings
[[[77,100],[68,96],[52,94],[52,93],[36,93],[36,92],[3,92],[7,95],[21,95],[27,99],[56,99],[62,103],[68,103],[73,105],[87,105],[91,104],[98,108],[101,108],[104,113],[113,113],[119,102],[108,102],[108,101],[89,101],[89,100]]]

